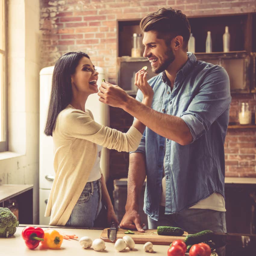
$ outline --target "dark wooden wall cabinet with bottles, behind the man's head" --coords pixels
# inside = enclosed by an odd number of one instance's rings
[[[224,67],[229,74],[230,90],[233,93],[256,92],[256,13],[221,15],[211,17],[188,17],[191,32],[195,37],[195,55],[203,60]],[[132,35],[141,33],[140,20],[117,20],[117,84],[129,94],[136,94],[135,73],[147,65],[148,78],[151,72],[147,58],[132,58]],[[229,27],[230,51],[223,52],[223,33]],[[205,53],[207,31],[211,31],[213,52]]]

